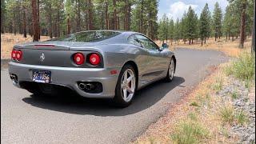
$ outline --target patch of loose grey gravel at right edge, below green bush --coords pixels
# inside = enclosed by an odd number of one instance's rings
[[[231,98],[230,94],[237,94]],[[255,143],[255,89],[249,90],[243,82],[230,78],[230,84],[224,86],[218,93],[223,101],[230,100],[236,112],[242,110],[246,114],[247,122],[244,125],[232,124],[231,133],[238,136],[238,143]]]

